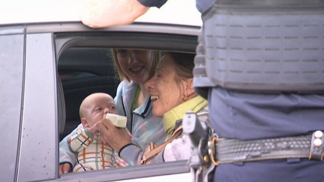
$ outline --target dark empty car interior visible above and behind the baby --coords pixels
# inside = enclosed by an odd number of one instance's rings
[[[115,97],[119,79],[115,74],[108,48],[69,48],[58,60],[58,74],[65,100],[65,126],[60,140],[80,123],[79,106],[93,92],[106,92]]]

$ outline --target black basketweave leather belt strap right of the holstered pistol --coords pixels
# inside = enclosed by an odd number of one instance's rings
[[[288,158],[308,158],[322,161],[324,134],[323,131],[318,130],[308,135],[259,140],[214,137],[210,152],[214,165]]]

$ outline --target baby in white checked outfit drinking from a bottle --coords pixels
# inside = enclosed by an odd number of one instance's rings
[[[107,93],[92,93],[82,101],[80,118],[83,128],[69,139],[72,151],[77,153],[73,172],[128,166],[113,148],[99,140],[97,122],[107,113],[118,114],[113,97]]]

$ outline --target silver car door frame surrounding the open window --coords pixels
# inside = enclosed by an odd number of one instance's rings
[[[134,23],[121,27],[92,29],[80,22],[36,23],[24,25],[24,33],[24,89],[15,181],[190,179],[186,161],[59,176],[58,138],[61,125],[64,124],[64,116],[60,115],[60,110],[64,109],[64,102],[59,102],[61,95],[57,87],[60,84],[57,59],[62,51],[78,46],[129,46],[139,49],[194,52],[199,27]],[[160,44],[157,44],[157,41]]]

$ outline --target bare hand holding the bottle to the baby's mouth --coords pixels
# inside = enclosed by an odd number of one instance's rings
[[[125,128],[117,128],[109,119],[103,119],[97,123],[100,129],[100,140],[109,144],[115,151],[123,146],[131,144],[132,140]]]

